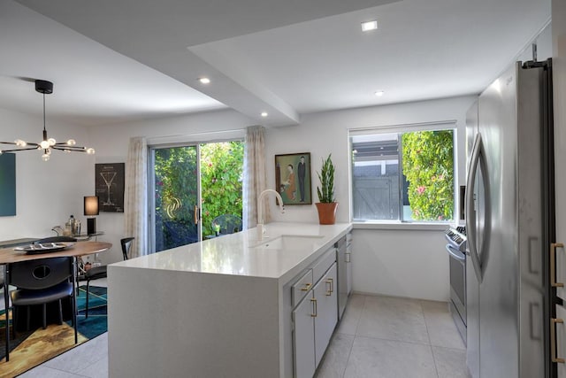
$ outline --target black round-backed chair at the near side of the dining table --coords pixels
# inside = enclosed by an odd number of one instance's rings
[[[42,305],[42,326],[45,329],[47,327],[47,304],[55,301],[58,301],[59,324],[62,324],[63,305],[61,299],[70,297],[74,343],[77,343],[74,278],[73,258],[71,257],[40,258],[10,264],[8,266],[8,284],[18,288],[10,293],[13,308],[12,324],[15,324],[19,318],[20,307],[27,306],[27,329],[29,329],[29,306]],[[8,324],[7,309],[6,324]],[[10,349],[9,330],[6,331],[6,336],[6,360],[8,360],[8,351]]]

